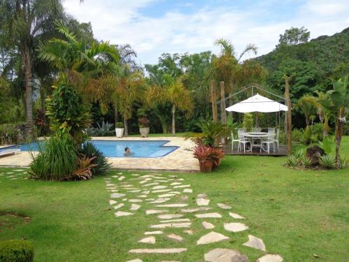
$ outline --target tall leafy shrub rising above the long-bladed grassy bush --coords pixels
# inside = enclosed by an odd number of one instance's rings
[[[57,136],[72,136],[75,145],[80,145],[87,138],[84,129],[89,127],[91,120],[89,108],[82,101],[77,89],[71,85],[60,84],[54,87],[52,96],[46,101],[50,129]]]

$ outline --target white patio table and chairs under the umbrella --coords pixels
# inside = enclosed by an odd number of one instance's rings
[[[275,152],[275,149],[279,151],[280,129],[269,127],[267,132],[262,132],[262,129],[259,127],[253,128],[251,132],[246,132],[246,129],[238,129],[237,139],[235,139],[233,132],[230,135],[232,139],[232,151],[234,150],[234,143],[237,143],[237,150],[241,151],[244,149],[244,153],[252,152],[253,147],[258,147],[260,153],[263,150],[269,154],[271,148],[273,152]]]

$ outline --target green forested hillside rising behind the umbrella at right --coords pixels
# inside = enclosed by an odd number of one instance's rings
[[[310,32],[305,32],[306,29],[292,34],[295,32],[286,30],[272,52],[256,58],[269,71],[270,88],[283,92],[283,75],[291,77],[294,102],[304,94],[331,89],[332,79],[349,73],[349,27],[333,36],[319,36],[311,41],[307,39]]]

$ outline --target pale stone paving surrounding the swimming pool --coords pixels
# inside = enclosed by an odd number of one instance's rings
[[[156,137],[156,138],[116,138],[114,136],[93,137],[92,140],[168,140],[166,145],[179,147],[165,157],[155,158],[131,158],[131,157],[109,157],[112,169],[119,170],[164,170],[181,172],[198,172],[200,170],[198,159],[193,157],[194,143],[180,137]],[[17,154],[0,157],[0,166],[25,167],[31,163],[29,152],[18,152]]]

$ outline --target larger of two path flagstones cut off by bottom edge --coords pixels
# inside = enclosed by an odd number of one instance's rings
[[[205,254],[207,262],[247,262],[247,256],[234,249],[216,248]]]

